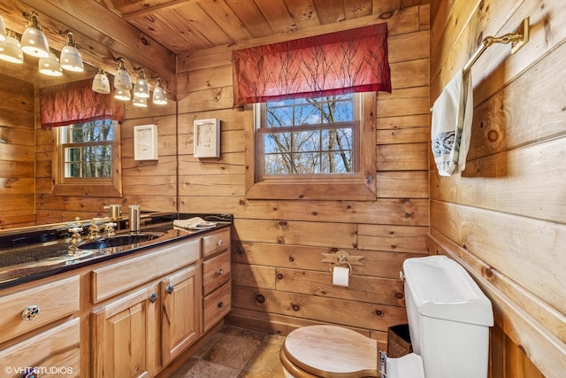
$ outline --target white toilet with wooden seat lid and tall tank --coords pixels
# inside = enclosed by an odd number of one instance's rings
[[[386,359],[385,378],[487,376],[493,310],[470,274],[446,256],[403,263],[413,353]],[[377,341],[348,328],[309,326],[280,352],[287,377],[379,377]]]

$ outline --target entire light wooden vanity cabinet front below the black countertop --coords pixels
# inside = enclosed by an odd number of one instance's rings
[[[221,228],[0,291],[0,366],[159,374],[230,312],[230,245]]]

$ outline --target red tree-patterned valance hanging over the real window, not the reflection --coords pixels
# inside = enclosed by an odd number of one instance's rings
[[[233,51],[234,105],[391,92],[387,24]]]

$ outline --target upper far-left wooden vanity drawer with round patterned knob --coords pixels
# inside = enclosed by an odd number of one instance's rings
[[[0,343],[78,312],[79,297],[78,275],[0,297]],[[38,314],[22,319],[23,312],[33,307]]]

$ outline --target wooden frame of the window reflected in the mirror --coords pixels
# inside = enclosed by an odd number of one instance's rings
[[[61,143],[61,130],[53,127],[55,156],[51,159],[52,180],[55,183],[55,196],[94,196],[122,197],[122,164],[120,151],[119,122],[113,122],[112,177],[109,178],[69,178],[65,177],[65,151]]]

